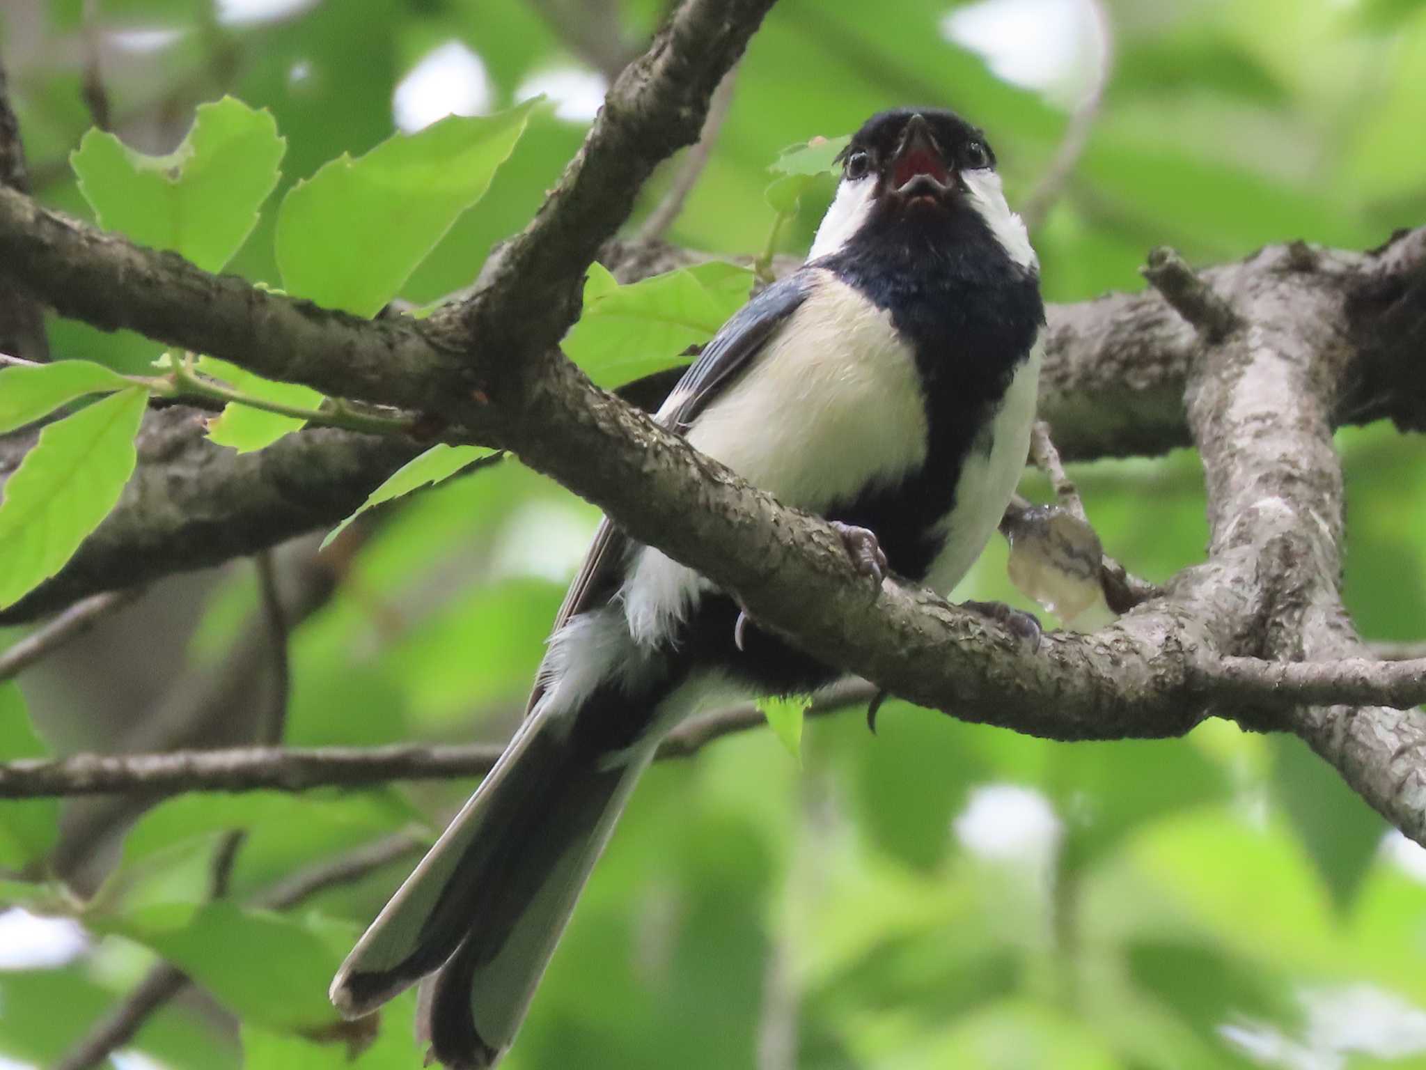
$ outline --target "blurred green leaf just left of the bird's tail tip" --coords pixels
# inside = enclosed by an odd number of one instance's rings
[[[90,923],[151,947],[244,1021],[312,1029],[337,1019],[327,986],[341,964],[342,934],[331,924],[228,902],[164,903]]]

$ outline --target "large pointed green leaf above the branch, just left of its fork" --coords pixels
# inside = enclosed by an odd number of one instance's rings
[[[282,198],[284,288],[327,308],[375,315],[441,237],[485,195],[539,98],[495,116],[449,116],[342,154]]]

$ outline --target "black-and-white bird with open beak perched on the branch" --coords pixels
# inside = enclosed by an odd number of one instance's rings
[[[985,134],[953,111],[877,113],[834,163],[806,261],[717,331],[655,419],[829,521],[871,582],[944,596],[1025,465],[1038,260]],[[429,1059],[495,1066],[659,740],[710,702],[841,675],[606,518],[523,722],[341,966],[332,1003],[355,1017],[419,983]]]

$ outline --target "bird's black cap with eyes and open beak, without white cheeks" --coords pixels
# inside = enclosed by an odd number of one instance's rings
[[[847,181],[873,178],[873,197],[896,208],[947,207],[965,191],[963,174],[995,168],[985,134],[954,111],[880,111],[841,153]]]

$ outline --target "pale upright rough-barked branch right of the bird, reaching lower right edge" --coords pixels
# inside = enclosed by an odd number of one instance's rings
[[[1252,265],[1265,271],[1255,275]],[[1224,653],[1305,662],[1253,665],[1256,695],[1239,708],[1241,719],[1296,732],[1387,820],[1426,842],[1420,716],[1355,705],[1292,705],[1265,718],[1252,709],[1279,693],[1273,681],[1302,683],[1306,702],[1397,705],[1420,698],[1413,689],[1419,665],[1403,663],[1399,672],[1409,679],[1400,681],[1389,666],[1368,661],[1338,586],[1342,465],[1332,447],[1332,414],[1356,348],[1345,314],[1352,288],[1335,281],[1349,270],[1340,260],[1313,257],[1312,270],[1303,271],[1301,251],[1288,247],[1265,250],[1219,281],[1222,292],[1233,294],[1241,325],[1204,354],[1188,392],[1206,474],[1211,562],[1219,571],[1199,591],[1212,591],[1226,611],[1205,613]],[[1285,290],[1285,278],[1306,282]],[[1224,605],[1228,592],[1235,592],[1236,606]],[[1232,675],[1243,668],[1228,661],[1211,671]],[[1345,686],[1316,689],[1333,676]],[[1368,678],[1383,688],[1348,693],[1346,685]]]

